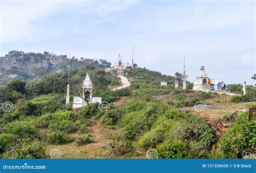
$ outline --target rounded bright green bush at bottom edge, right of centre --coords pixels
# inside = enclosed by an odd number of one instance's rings
[[[188,150],[182,141],[168,141],[157,146],[158,158],[186,158]]]

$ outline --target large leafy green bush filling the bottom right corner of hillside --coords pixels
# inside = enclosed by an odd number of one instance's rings
[[[245,149],[256,149],[256,120],[248,120],[248,111],[241,113],[233,126],[221,136],[217,157],[241,158]]]

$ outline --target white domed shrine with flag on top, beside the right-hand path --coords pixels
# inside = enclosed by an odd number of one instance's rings
[[[194,80],[193,82],[193,90],[196,90],[196,91],[206,91],[206,92],[209,92],[211,91],[211,86],[208,84],[208,76],[206,73],[203,73],[201,75],[201,77],[198,77]],[[215,79],[211,79],[211,84],[212,86],[214,86],[214,90],[213,92],[216,92],[218,90],[218,80],[215,80]]]

